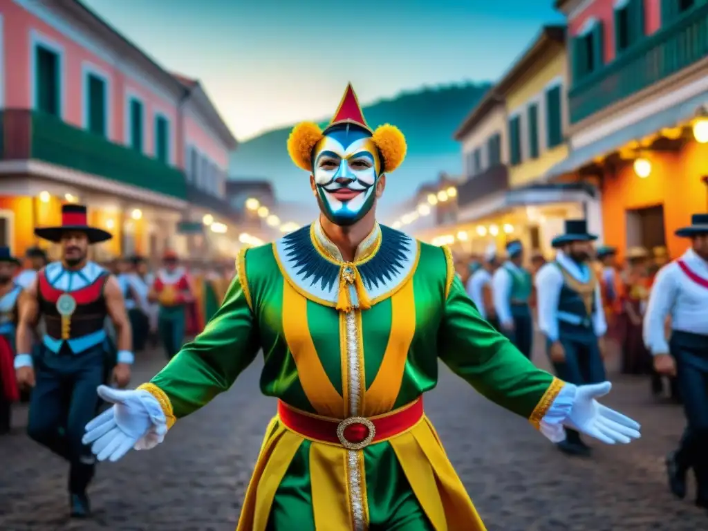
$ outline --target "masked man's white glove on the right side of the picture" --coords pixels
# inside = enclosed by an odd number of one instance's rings
[[[564,426],[586,433],[608,445],[616,442],[627,444],[632,439],[639,439],[641,427],[638,423],[595,400],[595,397],[609,393],[610,389],[610,382],[579,385],[573,408],[563,422]]]

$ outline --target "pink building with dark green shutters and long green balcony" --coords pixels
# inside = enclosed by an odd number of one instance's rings
[[[23,253],[41,243],[35,226],[80,201],[115,235],[100,258],[186,252],[188,189],[223,198],[236,148],[198,81],[80,2],[4,1],[0,43],[0,241]]]

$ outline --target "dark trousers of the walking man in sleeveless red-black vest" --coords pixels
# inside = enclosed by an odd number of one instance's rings
[[[45,348],[35,362],[28,435],[67,459],[69,492],[83,493],[93,479],[96,459],[81,438],[98,411],[96,387],[105,377],[103,344],[79,354],[67,346],[58,354]]]

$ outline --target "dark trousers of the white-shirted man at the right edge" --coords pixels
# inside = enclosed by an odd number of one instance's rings
[[[673,331],[671,354],[686,415],[686,430],[675,454],[680,467],[692,468],[700,498],[708,498],[708,336]]]

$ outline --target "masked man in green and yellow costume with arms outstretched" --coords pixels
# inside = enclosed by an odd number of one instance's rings
[[[219,312],[152,382],[99,389],[116,403],[87,426],[99,459],[160,442],[261,348],[261,389],[280,400],[241,531],[484,530],[423,413],[438,357],[551,438],[562,423],[605,442],[639,436],[595,402],[609,384],[554,379],[481,319],[449,249],[377,224],[406,144],[396,127],[368,127],[351,86],[324,131],[297,125],[287,145],[310,173],[319,219],[241,251]]]

